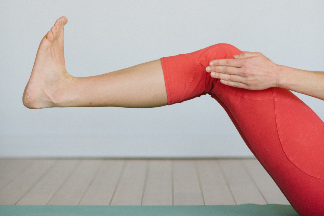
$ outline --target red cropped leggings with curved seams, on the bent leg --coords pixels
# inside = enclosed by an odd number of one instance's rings
[[[252,91],[205,71],[242,53],[232,45],[161,58],[168,105],[209,94],[226,110],[249,149],[301,216],[324,215],[324,124],[287,89]]]

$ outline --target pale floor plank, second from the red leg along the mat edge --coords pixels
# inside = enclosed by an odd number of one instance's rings
[[[236,204],[267,204],[258,188],[241,165],[240,160],[220,160]]]

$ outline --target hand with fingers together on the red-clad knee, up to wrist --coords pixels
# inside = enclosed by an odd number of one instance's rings
[[[234,58],[213,60],[206,71],[221,83],[238,88],[263,90],[279,85],[279,65],[262,53],[243,52]]]

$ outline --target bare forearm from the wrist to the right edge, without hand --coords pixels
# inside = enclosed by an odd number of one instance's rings
[[[279,66],[278,87],[324,100],[324,72]]]

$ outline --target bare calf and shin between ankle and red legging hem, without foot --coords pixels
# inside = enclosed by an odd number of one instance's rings
[[[168,104],[160,60],[98,76],[74,77],[60,107],[147,108]]]

